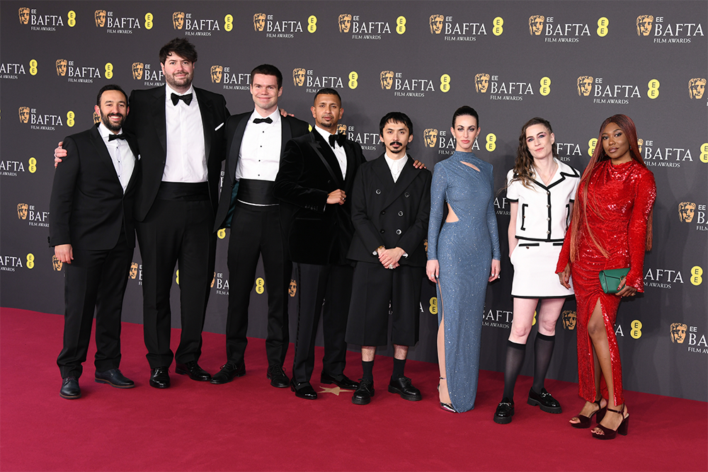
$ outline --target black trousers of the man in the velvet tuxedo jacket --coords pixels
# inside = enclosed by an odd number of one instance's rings
[[[292,377],[309,382],[314,369],[314,343],[322,315],[324,357],[322,372],[331,376],[344,373],[349,302],[352,293],[351,265],[317,265],[297,263],[299,293],[295,362]],[[323,306],[324,302],[324,306]]]

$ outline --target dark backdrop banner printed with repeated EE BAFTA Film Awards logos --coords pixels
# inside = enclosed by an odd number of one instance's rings
[[[280,105],[312,122],[314,93],[341,93],[341,129],[367,159],[382,152],[380,117],[413,120],[411,155],[432,169],[452,154],[450,117],[480,116],[474,152],[493,163],[501,189],[518,135],[534,116],[554,127],[560,159],[583,170],[601,122],[636,122],[639,148],[658,187],[646,292],[619,307],[615,330],[626,388],[708,401],[708,10],[698,0],[355,2],[273,0],[4,1],[0,7],[0,306],[63,312],[64,275],[47,247],[52,151],[90,127],[98,88],[164,84],[158,57],[176,36],[199,53],[194,84],[253,108],[250,71],[267,62],[284,76]],[[481,367],[502,371],[513,318],[506,229],[496,199],[502,279],[489,287]],[[223,333],[229,293],[229,231],[219,233],[205,329]],[[260,269],[259,269],[260,270]],[[142,321],[141,259],[135,251],[125,321]],[[263,272],[253,287],[249,335],[265,337]],[[423,282],[421,341],[412,359],[436,362],[437,305]],[[173,326],[178,320],[173,286]],[[290,330],[297,321],[291,283]],[[564,306],[549,376],[577,379],[576,312]],[[59,335],[59,334],[57,334]],[[531,338],[532,339],[532,338]],[[392,354],[392,350],[381,350]],[[531,357],[523,374],[532,373]]]

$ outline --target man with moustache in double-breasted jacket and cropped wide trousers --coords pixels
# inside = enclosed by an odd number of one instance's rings
[[[374,396],[374,355],[377,346],[388,344],[389,306],[394,343],[389,392],[409,401],[422,398],[404,367],[409,346],[418,343],[433,175],[413,167],[406,154],[413,140],[413,122],[407,115],[385,115],[379,139],[384,154],[359,168],[351,198],[355,234],[348,258],[357,263],[346,340],[361,346],[363,370],[352,396],[355,405],[366,405]]]

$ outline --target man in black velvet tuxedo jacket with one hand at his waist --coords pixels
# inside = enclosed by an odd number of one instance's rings
[[[273,195],[290,260],[297,265],[299,313],[295,362],[290,388],[314,400],[309,380],[314,369],[314,343],[323,311],[324,359],[321,382],[341,388],[358,384],[344,375],[347,326],[353,269],[346,255],[354,234],[350,193],[354,175],[364,162],[361,146],[336,134],[344,110],[333,88],[317,92],[312,106],[315,127],[285,145]]]

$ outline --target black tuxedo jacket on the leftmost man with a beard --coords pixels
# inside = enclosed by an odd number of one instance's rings
[[[55,171],[50,200],[50,246],[105,251],[115,247],[123,229],[128,246],[135,247],[133,205],[140,161],[135,139],[127,136],[126,141],[135,168],[124,193],[98,125],[64,138],[67,156]]]

